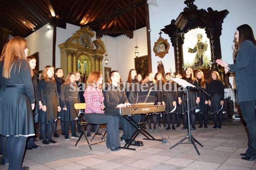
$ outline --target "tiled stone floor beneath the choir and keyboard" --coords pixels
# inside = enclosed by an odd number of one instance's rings
[[[239,154],[245,152],[248,141],[244,126],[223,126],[219,130],[211,129],[212,125],[208,127],[192,131],[193,137],[203,145],[197,144],[201,155],[197,154],[192,144],[179,144],[169,149],[187,135],[187,131],[181,131],[180,127],[176,131],[161,131],[163,138],[168,138],[165,145],[159,141],[144,140],[140,134],[138,140],[143,141],[144,146],[137,147],[136,151],[123,149],[112,152],[105,147],[105,143],[93,145],[92,150],[88,145],[75,147],[76,139],[67,141],[63,136],[54,138],[58,143],[48,146],[41,145],[39,140],[36,143],[41,148],[27,150],[23,165],[32,170],[256,170],[255,161],[240,159]],[[161,139],[159,129],[150,134]],[[100,140],[100,136],[94,139],[97,140]],[[85,143],[82,138],[79,144]],[[0,165],[0,170],[7,168]]]

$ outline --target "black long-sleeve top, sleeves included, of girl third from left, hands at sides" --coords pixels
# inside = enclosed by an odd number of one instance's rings
[[[52,81],[51,78],[49,78],[49,80],[50,81],[45,81],[45,79],[42,78],[41,80],[39,80],[39,83],[38,83],[39,94],[40,94],[40,98],[43,106],[46,105],[46,102],[44,99],[44,93],[56,93],[58,97],[56,82]],[[58,100],[58,106],[59,106],[59,100]]]

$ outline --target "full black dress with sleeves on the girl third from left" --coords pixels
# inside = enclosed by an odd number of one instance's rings
[[[57,120],[59,99],[57,94],[56,82],[45,81],[41,79],[38,83],[39,94],[43,106],[46,106],[46,112],[40,110],[40,122],[41,123],[54,123]]]

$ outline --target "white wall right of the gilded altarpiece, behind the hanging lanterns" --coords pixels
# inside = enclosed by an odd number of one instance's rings
[[[147,29],[143,27],[136,31],[137,34],[137,46],[139,47],[139,57],[148,55],[148,46],[147,46]],[[120,35],[115,38],[116,44],[116,57],[115,59],[109,59],[109,62],[115,62],[116,67],[112,70],[117,70],[123,82],[126,82],[128,73],[131,69],[134,69],[134,58],[135,58],[135,31],[133,32],[133,39],[130,39],[127,36]]]

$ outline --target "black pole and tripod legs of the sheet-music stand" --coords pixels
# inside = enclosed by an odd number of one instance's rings
[[[200,144],[200,142],[195,139],[192,134],[191,134],[191,130],[190,130],[190,117],[189,117],[189,99],[188,99],[188,91],[189,91],[189,87],[186,87],[186,103],[187,103],[187,116],[188,116],[188,134],[187,136],[185,136],[183,139],[181,139],[180,141],[178,141],[178,143],[176,143],[175,145],[173,145],[170,150],[172,148],[174,148],[175,146],[177,146],[178,144],[193,144],[195,150],[197,151],[198,155],[201,155],[197,149],[197,145],[195,145],[195,142],[198,143],[198,145],[200,145],[201,147],[203,147],[202,144]],[[184,140],[186,140],[188,138],[188,142],[183,142]]]

